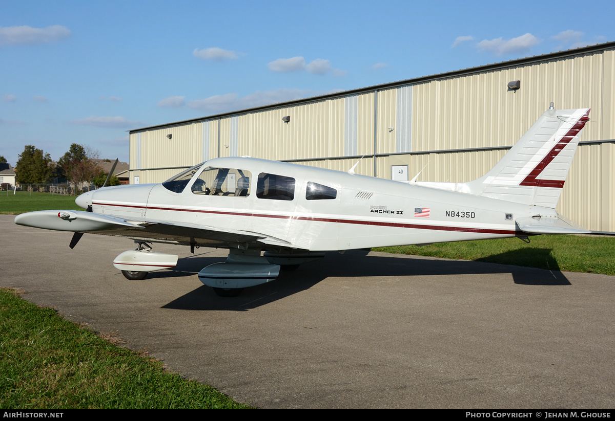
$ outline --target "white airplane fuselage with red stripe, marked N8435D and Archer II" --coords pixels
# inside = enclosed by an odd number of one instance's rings
[[[232,181],[232,188],[225,190],[216,174],[207,183],[199,179],[208,169],[239,172],[232,180],[228,172],[223,182]],[[546,207],[254,158],[216,158],[193,172],[180,188],[154,184],[95,191],[92,210],[263,234],[258,241],[263,249],[312,251],[513,237],[521,234],[515,226],[519,217],[557,217]],[[240,178],[243,194],[237,193]],[[271,186],[272,179],[292,191],[277,191],[280,186]],[[311,196],[314,185],[324,193]],[[220,191],[212,191],[216,187]]]

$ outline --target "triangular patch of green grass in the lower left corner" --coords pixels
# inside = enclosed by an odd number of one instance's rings
[[[0,288],[0,408],[250,408]]]

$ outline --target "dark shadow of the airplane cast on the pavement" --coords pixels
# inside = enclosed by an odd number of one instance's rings
[[[249,309],[272,303],[295,293],[308,290],[328,277],[395,277],[431,275],[472,275],[472,274],[512,274],[515,284],[520,285],[570,285],[566,276],[558,271],[558,265],[550,256],[550,250],[538,249],[545,258],[550,258],[552,270],[526,268],[522,266],[501,265],[466,260],[439,260],[431,258],[400,258],[398,255],[368,255],[365,250],[351,250],[344,254],[327,253],[319,261],[305,263],[296,271],[280,271],[278,279],[268,284],[245,288],[234,298],[221,298],[212,288],[196,288],[174,299],[163,308],[183,310],[226,310],[248,311]],[[502,253],[510,255],[515,251]],[[494,255],[493,258],[498,257]],[[180,260],[175,271],[161,272],[166,277],[196,274],[207,265],[224,261],[224,257],[189,257]]]

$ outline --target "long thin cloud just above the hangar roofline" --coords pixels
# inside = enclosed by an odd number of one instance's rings
[[[277,89],[274,91],[256,91],[250,95],[239,97],[235,93],[225,95],[210,96],[205,99],[194,99],[188,101],[188,106],[208,112],[219,114],[222,112],[243,110],[248,108],[260,107],[279,102],[293,101],[295,99],[308,98],[309,96],[325,95],[330,92],[318,92],[301,89]]]

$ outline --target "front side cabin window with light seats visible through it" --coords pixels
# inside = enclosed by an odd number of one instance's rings
[[[251,178],[252,172],[245,169],[208,167],[192,183],[192,193],[244,198],[250,194]]]

